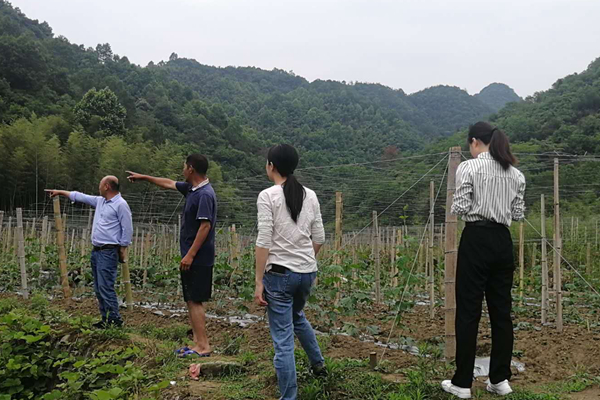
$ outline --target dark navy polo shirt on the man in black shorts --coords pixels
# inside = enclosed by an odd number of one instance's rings
[[[179,247],[181,257],[185,257],[192,247],[202,220],[210,221],[210,232],[192,265],[210,267],[215,264],[215,228],[217,226],[217,195],[209,184],[193,190],[187,182],[177,182],[177,190],[185,196],[181,216]]]

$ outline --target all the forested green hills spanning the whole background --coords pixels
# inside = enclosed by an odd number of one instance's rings
[[[234,218],[248,214],[267,185],[247,178],[263,174],[272,144],[297,146],[303,168],[386,161],[463,145],[464,128],[486,118],[521,151],[600,151],[598,60],[547,92],[522,102],[511,102],[519,100],[513,95],[501,84],[476,96],[450,86],[406,95],[378,84],[308,82],[278,69],[211,67],[174,53],[140,67],[109,44],[85,48],[56,37],[0,0],[0,209],[40,201],[49,186],[94,192],[101,176],[124,178],[126,169],[176,178],[184,155],[198,151],[212,160],[221,212]],[[350,189],[381,182],[393,194],[432,162],[419,159],[405,175],[392,164],[345,173]],[[330,181],[315,175],[310,182]],[[350,209],[366,215],[387,201],[371,194],[361,192]]]

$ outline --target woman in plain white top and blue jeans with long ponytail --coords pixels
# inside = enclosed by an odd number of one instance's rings
[[[317,276],[317,259],[325,231],[315,192],[294,176],[298,152],[278,145],[269,150],[267,176],[274,186],[258,196],[255,301],[266,306],[282,400],[298,393],[294,333],[306,351],[313,373],[326,372],[315,332],[304,305]]]

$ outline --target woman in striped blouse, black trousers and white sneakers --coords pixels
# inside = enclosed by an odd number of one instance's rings
[[[471,126],[472,160],[459,165],[452,213],[466,222],[456,269],[456,373],[442,387],[471,398],[477,332],[483,296],[492,325],[487,390],[512,392],[508,383],[513,351],[511,319],[514,258],[508,227],[524,218],[525,177],[514,167],[508,137],[486,122]]]

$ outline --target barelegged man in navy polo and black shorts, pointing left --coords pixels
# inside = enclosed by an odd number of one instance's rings
[[[185,196],[179,239],[180,271],[183,299],[188,306],[195,344],[177,350],[183,357],[208,357],[211,352],[206,335],[204,303],[210,300],[212,294],[217,196],[206,177],[207,170],[206,157],[192,154],[183,164],[185,182],[127,171],[131,182],[148,181],[164,189],[178,190]]]

